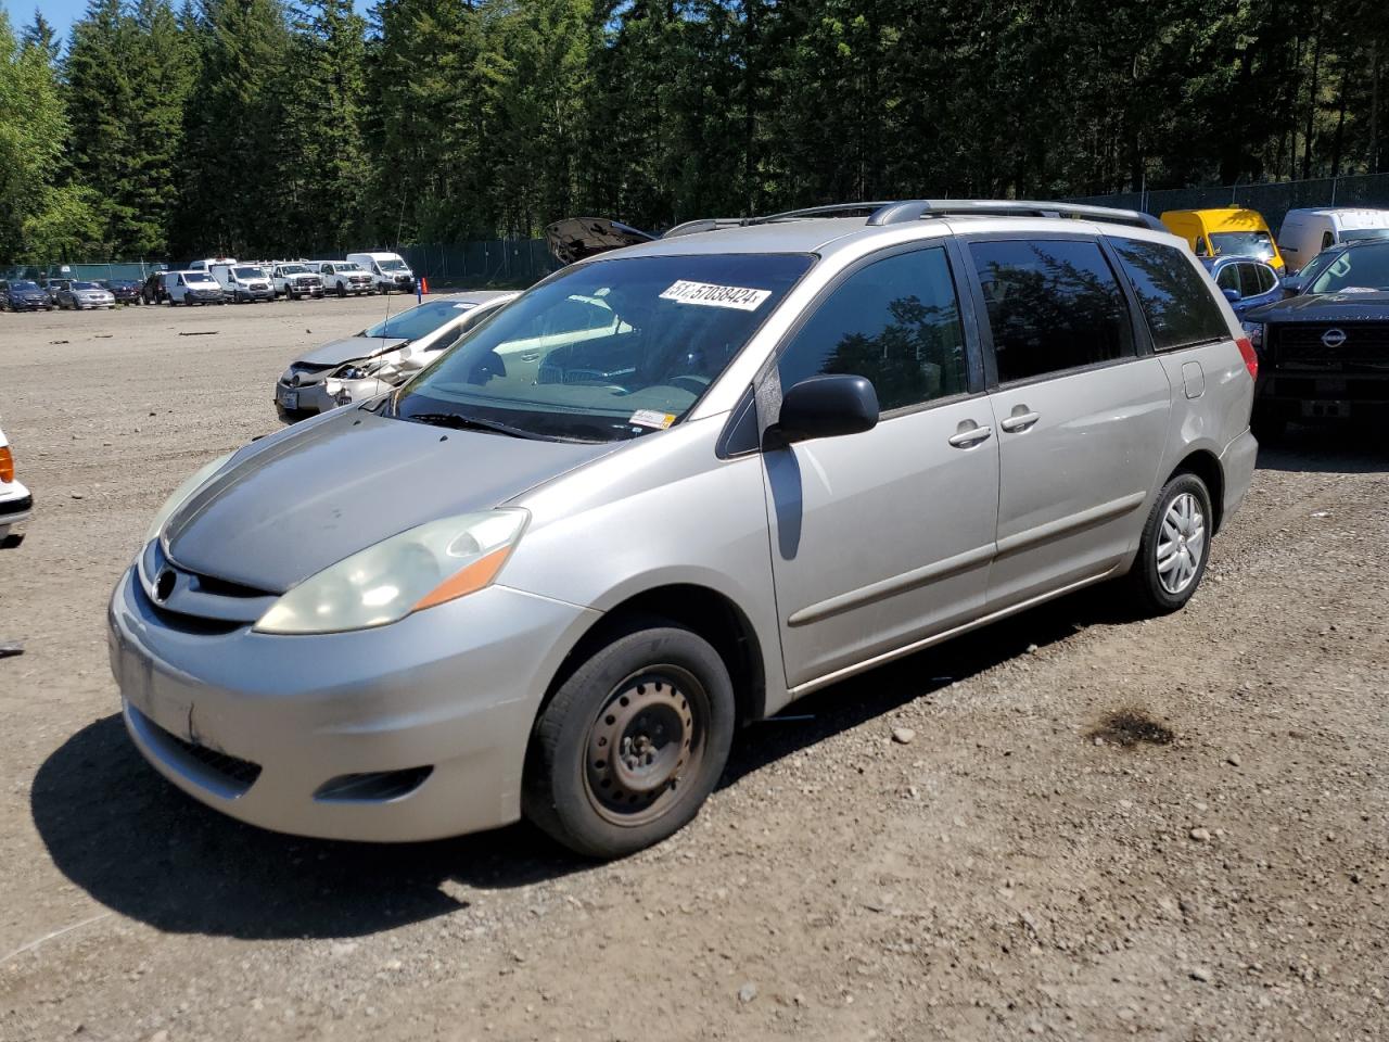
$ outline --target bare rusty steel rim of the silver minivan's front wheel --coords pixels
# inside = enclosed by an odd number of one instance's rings
[[[617,685],[589,727],[585,789],[615,825],[643,825],[678,799],[704,757],[708,695],[686,670],[657,665]]]

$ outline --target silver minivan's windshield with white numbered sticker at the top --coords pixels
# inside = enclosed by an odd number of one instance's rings
[[[397,393],[393,414],[440,424],[476,420],[581,440],[665,429],[718,378],[811,261],[804,254],[725,254],[578,265],[464,336]]]

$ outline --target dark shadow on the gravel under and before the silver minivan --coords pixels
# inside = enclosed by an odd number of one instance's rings
[[[1121,621],[1103,589],[826,688],[740,732],[721,786],[785,756],[1095,622]],[[467,907],[450,881],[510,889],[592,871],[525,824],[431,843],[347,843],[267,832],[204,807],[135,750],[119,714],[40,766],[35,825],[54,864],[97,902],[169,932],[346,938]]]

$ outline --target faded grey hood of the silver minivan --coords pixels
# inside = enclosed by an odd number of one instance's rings
[[[619,446],[340,408],[243,449],[174,513],[165,545],[192,571],[283,592],[397,532],[489,510]]]

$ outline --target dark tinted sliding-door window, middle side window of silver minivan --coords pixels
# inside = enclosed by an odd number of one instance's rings
[[[1133,353],[1124,295],[1097,243],[981,242],[970,251],[989,308],[1000,383]]]

